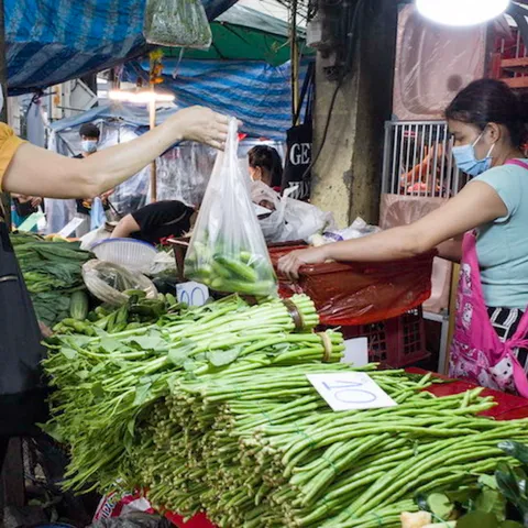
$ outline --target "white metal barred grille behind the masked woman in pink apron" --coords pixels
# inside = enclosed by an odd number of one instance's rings
[[[451,154],[446,121],[387,121],[382,193],[450,198],[468,182]]]

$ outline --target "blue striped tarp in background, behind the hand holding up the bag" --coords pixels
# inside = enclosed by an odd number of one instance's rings
[[[309,59],[301,64],[302,82]],[[290,63],[271,66],[256,61],[164,61],[160,90],[170,90],[176,105],[202,105],[244,124],[242,131],[254,138],[284,141],[292,127]],[[148,79],[148,63],[127,64],[123,80]]]

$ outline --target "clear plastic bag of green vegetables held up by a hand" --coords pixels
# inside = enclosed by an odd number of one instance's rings
[[[185,260],[188,278],[217,292],[276,295],[277,280],[240,168],[237,120],[231,119],[226,152],[217,156]]]

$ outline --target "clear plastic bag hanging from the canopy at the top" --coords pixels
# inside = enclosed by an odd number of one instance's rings
[[[207,50],[212,42],[200,0],[147,0],[143,34],[160,46]]]

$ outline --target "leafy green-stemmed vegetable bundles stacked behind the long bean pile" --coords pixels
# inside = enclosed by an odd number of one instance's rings
[[[121,471],[130,474],[127,453],[141,442],[136,425],[180,377],[339,361],[341,334],[312,333],[317,324],[306,296],[256,306],[231,297],[111,336],[55,337],[44,362],[57,388],[46,430],[70,446],[67,485],[107,490]]]

